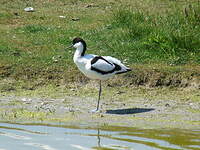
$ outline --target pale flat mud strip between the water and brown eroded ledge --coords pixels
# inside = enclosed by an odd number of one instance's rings
[[[91,85],[90,85],[91,86]],[[93,88],[93,87],[91,87]],[[78,89],[80,92],[82,89]],[[67,125],[128,126],[138,128],[199,129],[200,92],[176,89],[107,89],[96,107],[96,91],[56,91],[33,96],[0,96],[0,120],[8,122],[62,123]],[[76,94],[72,94],[76,93]],[[85,93],[85,96],[81,96]],[[90,95],[93,93],[94,95]],[[189,94],[190,93],[190,94]],[[20,94],[18,94],[20,95]],[[22,94],[21,94],[22,95]],[[44,96],[46,95],[46,96]],[[187,95],[187,96],[185,96]],[[195,96],[195,97],[194,97]]]

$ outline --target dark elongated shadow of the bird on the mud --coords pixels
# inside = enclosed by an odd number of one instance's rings
[[[114,109],[114,110],[106,110],[107,114],[118,114],[118,115],[126,115],[126,114],[136,114],[136,113],[144,113],[155,110],[154,108],[127,108],[127,109]]]

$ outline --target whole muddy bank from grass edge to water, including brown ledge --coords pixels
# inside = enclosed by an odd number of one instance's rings
[[[101,112],[95,81],[77,69],[0,68],[0,120],[140,128],[200,126],[200,67],[135,65],[103,83]]]

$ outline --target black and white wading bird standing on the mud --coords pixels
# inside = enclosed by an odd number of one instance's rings
[[[73,60],[78,69],[88,78],[99,80],[97,108],[92,112],[99,111],[99,102],[102,90],[101,80],[107,80],[115,74],[125,73],[131,71],[131,69],[122,64],[120,60],[111,56],[85,54],[87,45],[82,38],[74,38],[72,46],[70,47],[74,47],[76,49]]]

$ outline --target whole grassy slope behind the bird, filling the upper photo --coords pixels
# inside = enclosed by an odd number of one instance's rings
[[[27,6],[35,12],[23,11]],[[64,51],[76,36],[86,40],[88,53],[111,55],[130,66],[198,66],[199,14],[197,0],[2,0],[0,77],[81,80],[74,77],[74,51]]]

